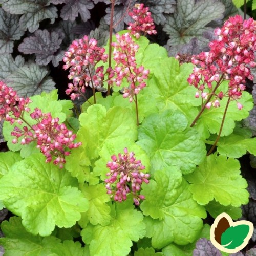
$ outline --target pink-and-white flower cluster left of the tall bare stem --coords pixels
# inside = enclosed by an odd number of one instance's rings
[[[95,66],[99,61],[106,62],[108,54],[104,54],[105,49],[97,46],[97,40],[88,36],[83,36],[82,39],[74,40],[69,47],[69,51],[65,52],[63,61],[66,65],[63,69],[70,69],[69,79],[73,79],[73,83],[69,83],[69,89],[66,93],[71,94],[71,99],[74,100],[84,95],[86,87],[90,86],[97,88],[102,85],[105,73],[103,67]],[[106,73],[111,73],[112,69],[108,69]],[[73,93],[72,93],[73,92]]]

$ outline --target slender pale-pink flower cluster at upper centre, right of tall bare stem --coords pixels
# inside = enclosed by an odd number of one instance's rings
[[[137,68],[135,53],[139,46],[135,44],[129,33],[116,34],[116,39],[117,42],[112,42],[113,59],[116,61],[115,77],[112,78],[112,82],[120,86],[125,78],[129,87],[124,88],[123,97],[130,98],[132,102],[135,100],[134,95],[146,86],[144,79],[148,78],[150,71],[144,70],[143,66]]]

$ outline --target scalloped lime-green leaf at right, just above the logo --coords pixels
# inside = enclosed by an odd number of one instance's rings
[[[225,206],[240,207],[248,203],[247,182],[240,175],[236,159],[211,154],[185,179],[191,183],[189,190],[199,204],[208,204],[213,199]]]

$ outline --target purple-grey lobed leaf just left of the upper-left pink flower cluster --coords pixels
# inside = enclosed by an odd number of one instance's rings
[[[50,61],[54,67],[57,67],[62,60],[64,53],[58,51],[64,34],[60,31],[49,32],[48,30],[38,29],[33,36],[26,37],[18,50],[25,54],[35,53],[35,62],[37,65],[46,66]]]

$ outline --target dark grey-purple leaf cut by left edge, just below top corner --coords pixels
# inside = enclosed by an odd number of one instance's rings
[[[19,16],[12,15],[0,8],[0,54],[12,53],[14,41],[24,35],[19,27]]]

